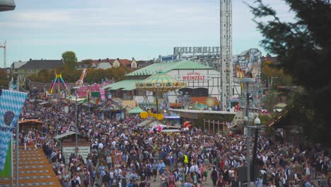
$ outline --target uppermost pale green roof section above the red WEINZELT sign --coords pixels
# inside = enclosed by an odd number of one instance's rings
[[[190,60],[174,61],[174,62],[158,62],[151,64],[147,67],[137,69],[134,72],[126,74],[125,77],[138,76],[138,75],[152,75],[156,74],[158,71],[170,72],[174,69],[213,69],[212,67],[207,67],[199,62],[194,62]]]

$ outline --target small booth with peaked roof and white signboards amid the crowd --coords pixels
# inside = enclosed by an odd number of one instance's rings
[[[91,152],[91,142],[88,137],[78,134],[78,155],[80,154],[83,159],[86,159]],[[69,163],[69,157],[71,154],[76,154],[76,132],[66,132],[62,135],[54,137],[59,143],[59,149],[62,150],[62,154],[66,159],[66,163]]]

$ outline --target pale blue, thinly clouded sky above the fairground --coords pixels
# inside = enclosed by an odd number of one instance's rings
[[[0,44],[7,43],[7,67],[18,60],[150,60],[173,47],[219,46],[219,0],[15,0],[0,12]],[[245,0],[253,4],[253,0]],[[281,0],[265,0],[284,20],[293,18]],[[233,54],[260,47],[262,35],[250,8],[233,0]],[[3,67],[0,50],[0,67]]]

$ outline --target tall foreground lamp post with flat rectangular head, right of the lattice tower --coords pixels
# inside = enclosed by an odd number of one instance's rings
[[[247,149],[247,186],[250,187],[250,111],[249,111],[249,100],[250,100],[250,92],[249,87],[250,84],[255,84],[254,78],[243,78],[240,81],[241,84],[246,86],[246,99],[247,99],[247,106],[246,106],[246,116],[244,120],[246,121],[246,149]]]

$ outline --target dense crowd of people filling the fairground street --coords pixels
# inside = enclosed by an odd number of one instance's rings
[[[105,115],[107,116],[107,115]],[[64,158],[54,136],[76,130],[75,105],[50,107],[27,101],[21,118],[39,118],[40,128],[21,133],[21,143],[42,147],[62,186],[161,187],[240,186],[245,167],[245,135],[221,135],[192,127],[163,133],[139,128],[139,115],[101,118],[81,106],[79,133],[91,141],[91,153]],[[253,141],[250,141],[253,142]],[[252,145],[250,146],[252,157]],[[330,150],[317,145],[296,147],[260,135],[255,186],[331,186]],[[318,182],[315,182],[318,181]]]

